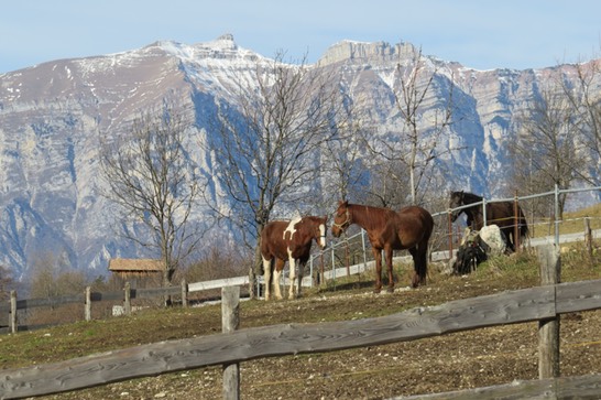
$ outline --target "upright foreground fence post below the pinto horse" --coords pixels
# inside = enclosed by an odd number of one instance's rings
[[[240,325],[240,287],[221,289],[221,325],[232,333]],[[223,365],[223,399],[240,399],[240,364]]]

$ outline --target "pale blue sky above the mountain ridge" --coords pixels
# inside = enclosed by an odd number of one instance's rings
[[[409,42],[478,69],[553,66],[601,50],[599,0],[24,0],[0,10],[0,74],[223,33],[264,56],[312,63],[342,40]]]

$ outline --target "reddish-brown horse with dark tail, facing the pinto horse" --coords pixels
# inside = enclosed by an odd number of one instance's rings
[[[357,224],[368,231],[375,259],[375,293],[382,289],[382,250],[389,272],[389,292],[394,291],[392,275],[393,250],[408,250],[413,257],[413,288],[426,283],[428,270],[428,240],[434,229],[434,219],[427,210],[408,206],[394,212],[349,202],[339,202],[331,233],[339,237],[347,228]]]

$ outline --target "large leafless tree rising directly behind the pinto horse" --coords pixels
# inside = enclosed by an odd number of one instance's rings
[[[216,179],[233,199],[230,209],[216,209],[251,247],[277,207],[294,208],[315,196],[319,151],[334,137],[337,91],[328,76],[308,68],[305,60],[284,64],[283,56],[280,52],[258,64],[250,79],[239,82],[237,109],[221,107],[215,131],[207,136]],[[260,271],[259,246],[254,264]],[[252,291],[252,269],[250,274]]]

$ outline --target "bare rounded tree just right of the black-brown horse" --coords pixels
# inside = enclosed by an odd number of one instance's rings
[[[520,117],[522,131],[510,149],[516,186],[533,192],[554,185],[569,188],[583,162],[577,148],[578,118],[564,90],[553,83],[534,98]],[[559,218],[566,196],[564,193],[559,198]]]

